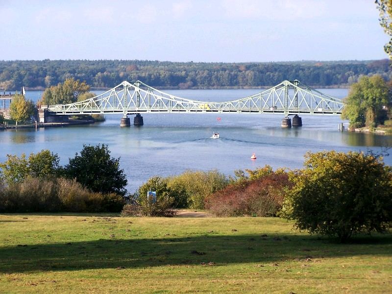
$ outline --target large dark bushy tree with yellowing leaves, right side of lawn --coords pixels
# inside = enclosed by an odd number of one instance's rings
[[[282,215],[310,233],[338,236],[392,227],[392,168],[363,152],[308,152]]]

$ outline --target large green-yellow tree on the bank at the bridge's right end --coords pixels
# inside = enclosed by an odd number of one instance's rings
[[[386,107],[391,103],[389,87],[380,75],[362,76],[351,85],[345,98],[342,119],[348,119],[351,127],[384,123]]]

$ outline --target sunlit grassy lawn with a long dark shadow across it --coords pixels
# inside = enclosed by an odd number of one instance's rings
[[[392,293],[392,235],[275,218],[0,215],[0,293]]]

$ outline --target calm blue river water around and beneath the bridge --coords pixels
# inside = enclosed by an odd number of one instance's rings
[[[344,98],[347,89],[319,89]],[[260,89],[167,90],[182,98],[225,101],[243,98]],[[97,94],[100,92],[96,92]],[[37,100],[42,92],[28,91]],[[21,155],[49,149],[60,163],[79,152],[83,144],[107,144],[128,178],[128,192],[153,175],[168,176],[185,170],[217,169],[233,174],[237,169],[256,169],[266,164],[273,168],[301,168],[307,151],[373,150],[392,146],[392,136],[339,132],[340,116],[302,115],[303,126],[283,129],[281,114],[143,114],[141,127],[120,127],[121,115],[106,115],[106,121],[83,126],[18,129],[0,131],[0,162],[6,154]],[[217,120],[220,117],[221,120]],[[132,123],[132,117],[131,117]],[[213,132],[220,139],[211,139]],[[255,153],[257,160],[251,160]],[[384,161],[392,165],[392,156]]]

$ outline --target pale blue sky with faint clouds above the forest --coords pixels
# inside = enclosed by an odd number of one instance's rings
[[[0,0],[0,60],[388,58],[374,0]]]

